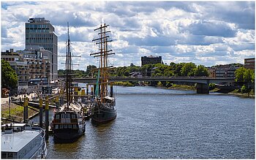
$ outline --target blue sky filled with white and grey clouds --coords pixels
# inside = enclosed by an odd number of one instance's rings
[[[25,23],[45,18],[59,37],[59,56],[66,53],[69,22],[74,69],[99,66],[90,56],[100,23],[111,31],[113,66],[140,66],[141,56],[197,65],[244,64],[255,57],[254,1],[1,1],[1,51],[25,49]],[[59,57],[64,69],[64,57]]]

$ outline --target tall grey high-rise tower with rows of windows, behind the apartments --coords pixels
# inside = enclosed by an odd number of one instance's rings
[[[29,18],[26,23],[26,49],[33,45],[44,47],[50,55],[50,81],[58,79],[58,37],[50,20],[45,18]]]

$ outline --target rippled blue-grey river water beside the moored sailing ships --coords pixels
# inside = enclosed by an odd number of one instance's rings
[[[116,87],[115,121],[86,122],[72,143],[50,136],[50,159],[253,159],[255,99],[153,87]]]

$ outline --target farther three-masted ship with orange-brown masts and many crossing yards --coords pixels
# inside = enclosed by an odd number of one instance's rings
[[[113,50],[108,50],[110,31],[107,31],[109,25],[105,23],[99,28],[94,29],[98,32],[99,37],[92,41],[99,45],[99,52],[91,53],[90,56],[99,58],[99,68],[97,75],[97,85],[95,89],[95,107],[91,116],[92,123],[108,123],[116,118],[116,99],[113,96],[113,85],[108,80],[109,70],[113,66],[108,66],[108,56],[113,55]],[[110,92],[108,85],[110,84]]]

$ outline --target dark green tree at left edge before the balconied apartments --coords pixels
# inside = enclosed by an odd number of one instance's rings
[[[1,88],[15,88],[18,84],[18,75],[9,62],[1,60]]]

